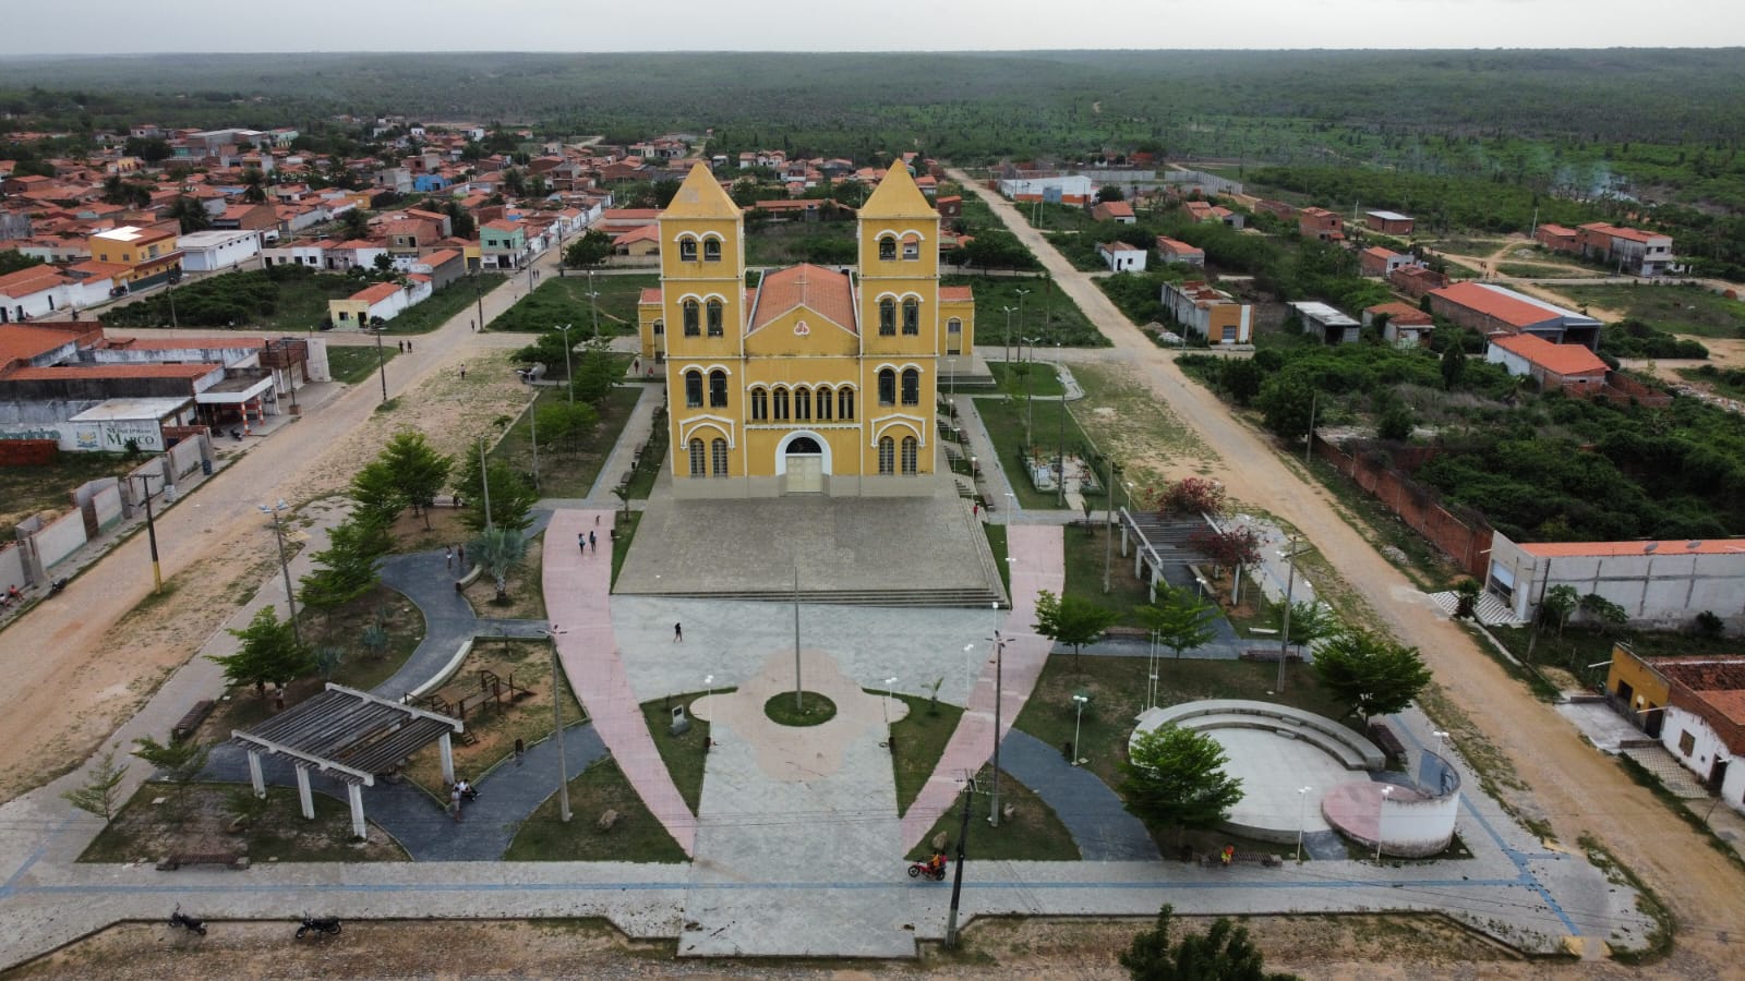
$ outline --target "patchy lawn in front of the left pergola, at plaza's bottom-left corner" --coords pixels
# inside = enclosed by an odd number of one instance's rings
[[[117,754],[119,758],[119,754]],[[134,766],[145,763],[134,759]],[[80,862],[159,861],[171,852],[243,852],[251,864],[281,862],[403,862],[405,850],[370,824],[366,841],[351,840],[351,808],[314,794],[316,817],[304,820],[293,787],[267,787],[267,812],[232,834],[229,799],[253,794],[248,784],[141,784],[113,820],[98,833]],[[164,803],[152,803],[164,798]]]

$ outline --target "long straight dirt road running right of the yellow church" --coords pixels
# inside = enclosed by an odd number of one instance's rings
[[[1235,421],[1206,388],[1190,382],[1176,368],[1174,354],[1141,337],[1103,292],[1066,264],[1010,204],[967,180],[961,171],[951,176],[1000,215],[1115,342],[1117,351],[1131,358],[1152,391],[1218,450],[1222,461],[1213,471],[1230,496],[1242,506],[1295,525],[1394,637],[1424,653],[1436,684],[1468,714],[1464,726],[1455,719],[1443,723],[1454,726],[1457,737],[1462,728],[1482,733],[1530,787],[1525,792],[1504,791],[1509,803],[1525,815],[1548,820],[1567,847],[1576,847],[1584,834],[1604,841],[1668,902],[1684,927],[1680,943],[1712,969],[1733,971],[1738,955],[1726,946],[1726,936],[1745,930],[1745,913],[1740,911],[1745,875],[1721,861],[1665,805],[1630,782],[1616,763],[1586,745],[1569,723],[1478,651],[1403,573],[1338,517],[1335,503],[1317,484],[1274,452],[1269,438]]]

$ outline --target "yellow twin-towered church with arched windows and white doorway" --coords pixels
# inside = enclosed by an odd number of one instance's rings
[[[975,339],[968,286],[939,285],[939,213],[902,162],[859,215],[855,269],[747,285],[745,223],[698,164],[660,215],[661,285],[639,307],[667,372],[674,496],[930,496],[941,358]]]

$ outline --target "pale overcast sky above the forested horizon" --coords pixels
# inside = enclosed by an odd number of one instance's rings
[[[14,54],[1745,45],[1745,0],[82,0],[73,17],[14,3]]]

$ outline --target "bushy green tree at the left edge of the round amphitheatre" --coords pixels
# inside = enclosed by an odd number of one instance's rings
[[[1133,740],[1120,763],[1120,796],[1148,824],[1178,833],[1213,827],[1242,799],[1242,782],[1223,772],[1227,763],[1209,735],[1159,726]]]

